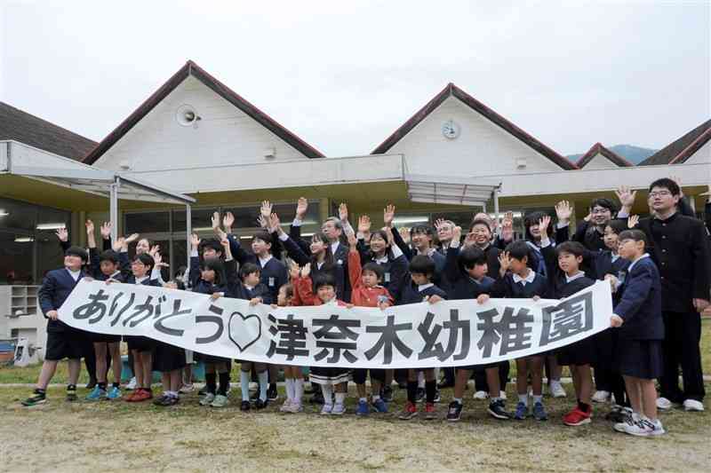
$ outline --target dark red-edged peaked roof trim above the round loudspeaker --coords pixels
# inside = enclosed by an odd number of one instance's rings
[[[114,146],[119,139],[121,139],[129,130],[140,122],[140,120],[146,116],[148,112],[153,110],[153,108],[165,99],[168,94],[175,90],[180,83],[187,79],[188,75],[192,75],[198,81],[204,83],[204,85],[212,89],[212,91],[220,95],[220,97],[226,99],[229,103],[242,110],[245,114],[251,116],[254,120],[270,130],[277,137],[282,138],[286,143],[298,150],[301,154],[304,154],[309,158],[325,157],[324,154],[321,154],[321,152],[315,147],[308,145],[308,143],[294,135],[291,131],[286,130],[268,114],[265,114],[259,108],[243,99],[236,92],[232,91],[227,85],[221,83],[212,75],[208,74],[195,62],[188,60],[188,62],[185,63],[185,66],[180,67],[178,72],[172,75],[172,77],[168,79],[168,81],[157,91],[155,91],[153,95],[148,97],[148,99],[146,99],[145,102],[143,102],[132,114],[130,114],[124,122],[121,122],[121,124],[116,127],[116,130],[109,133],[108,136],[104,138],[100,144],[84,158],[84,162],[86,164],[93,164],[96,162],[102,154],[106,153],[111,146]]]

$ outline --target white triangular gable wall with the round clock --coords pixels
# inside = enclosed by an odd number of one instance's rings
[[[459,124],[459,138],[443,137],[442,125],[448,120]],[[412,174],[462,177],[561,170],[454,97],[445,99],[388,153],[404,154]],[[524,169],[516,168],[520,158],[526,160]]]

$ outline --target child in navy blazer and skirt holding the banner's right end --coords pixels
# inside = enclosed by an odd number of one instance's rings
[[[665,433],[657,417],[657,390],[654,380],[662,374],[664,321],[661,313],[661,282],[657,265],[646,253],[641,230],[619,233],[619,256],[631,263],[621,296],[611,316],[611,326],[619,327],[619,370],[625,378],[633,414],[614,429],[638,437]]]

